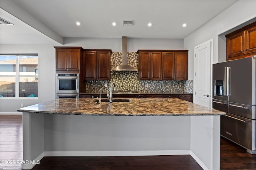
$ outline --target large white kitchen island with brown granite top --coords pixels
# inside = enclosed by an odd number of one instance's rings
[[[57,99],[23,112],[23,159],[44,156],[190,154],[204,169],[220,168],[220,115],[180,99]],[[34,164],[23,164],[31,169]]]

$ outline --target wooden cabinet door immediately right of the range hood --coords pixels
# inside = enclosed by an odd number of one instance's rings
[[[150,52],[139,53],[139,79],[150,80]]]

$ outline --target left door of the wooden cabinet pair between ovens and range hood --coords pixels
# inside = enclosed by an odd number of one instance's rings
[[[84,80],[96,80],[96,51],[84,51]]]

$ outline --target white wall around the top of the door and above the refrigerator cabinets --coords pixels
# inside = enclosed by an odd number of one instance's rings
[[[188,49],[188,79],[194,79],[194,47],[213,39],[213,63],[226,61],[226,43],[218,35],[256,17],[256,0],[239,0],[184,39]]]

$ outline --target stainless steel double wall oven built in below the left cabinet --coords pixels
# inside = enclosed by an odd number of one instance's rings
[[[79,98],[79,74],[56,74],[56,99]]]

